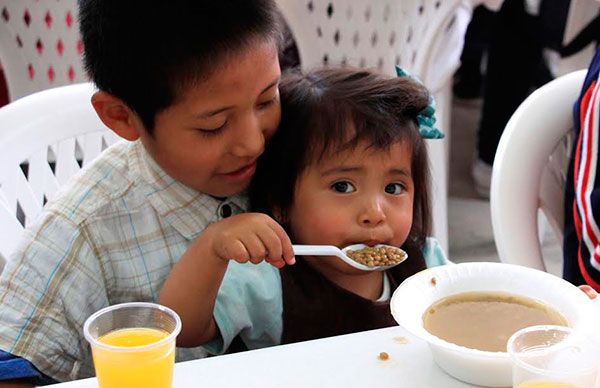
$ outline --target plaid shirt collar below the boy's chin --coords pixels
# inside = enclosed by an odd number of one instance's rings
[[[243,213],[248,208],[243,194],[221,200],[175,180],[154,161],[139,140],[132,144],[130,155],[134,181],[141,184],[143,194],[161,219],[188,240],[222,218],[219,209],[223,204],[231,206],[231,214]]]

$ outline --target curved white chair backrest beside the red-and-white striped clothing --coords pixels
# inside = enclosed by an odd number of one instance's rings
[[[490,190],[494,240],[502,262],[545,270],[538,209],[562,241],[573,104],[585,74],[566,74],[533,92],[502,133]]]

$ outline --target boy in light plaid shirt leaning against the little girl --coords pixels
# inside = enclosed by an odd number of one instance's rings
[[[85,319],[155,301],[204,228],[245,222],[239,194],[279,124],[271,0],[84,0],[80,23],[94,109],[129,142],[47,205],[4,269],[0,387],[92,376]]]

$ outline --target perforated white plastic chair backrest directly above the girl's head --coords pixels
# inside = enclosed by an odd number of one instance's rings
[[[434,89],[440,85],[432,85],[427,78],[452,75],[464,29],[458,31],[458,44],[450,47],[456,51],[450,61],[446,55],[436,55],[448,48],[438,43],[440,37],[460,27],[455,23],[457,9],[463,8],[467,15],[471,9],[465,0],[277,0],[277,4],[304,69],[349,64],[394,74],[394,65],[400,65]],[[446,66],[429,74],[434,59]]]

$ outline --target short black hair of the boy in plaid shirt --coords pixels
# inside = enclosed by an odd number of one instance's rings
[[[80,0],[85,68],[152,132],[155,115],[227,56],[279,45],[275,11],[273,0]]]

